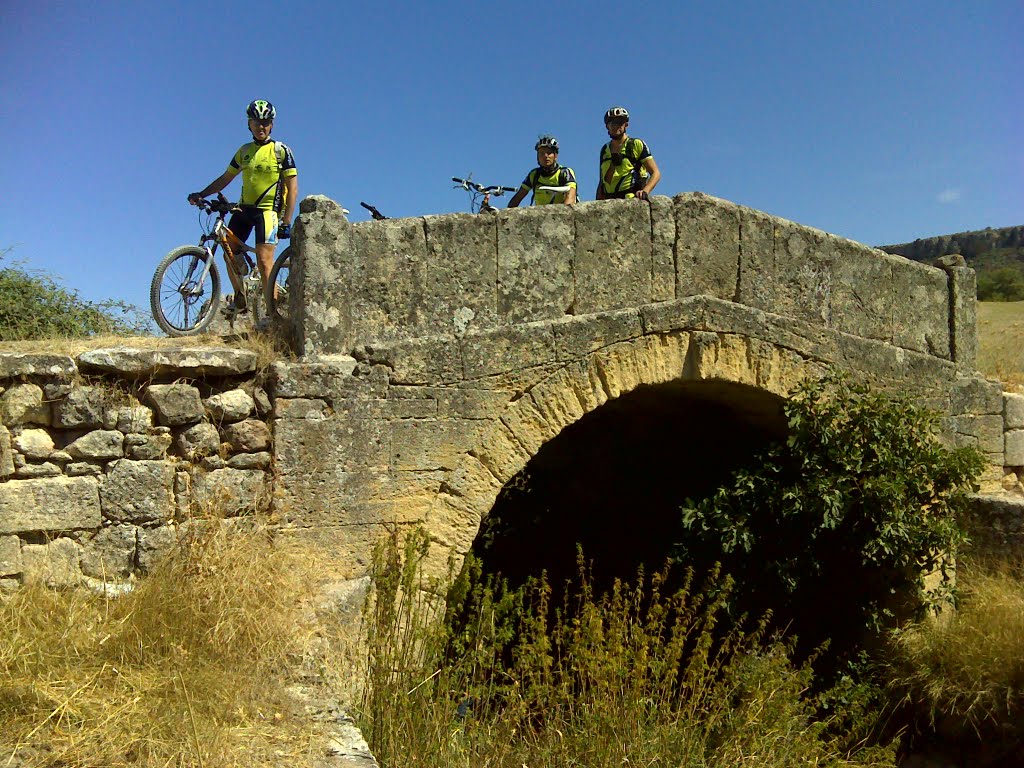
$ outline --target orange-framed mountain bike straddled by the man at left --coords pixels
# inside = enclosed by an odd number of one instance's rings
[[[238,204],[218,194],[217,200],[204,200],[199,207],[207,215],[201,223],[199,245],[181,246],[167,254],[150,284],[154,319],[168,336],[203,333],[216,317],[220,307],[220,272],[214,258],[218,246],[242,284],[253,323],[258,325],[263,317],[264,291],[256,268],[256,250],[240,241],[224,221]],[[278,258],[287,253],[286,248]]]

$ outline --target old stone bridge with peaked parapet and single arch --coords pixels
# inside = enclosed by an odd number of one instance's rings
[[[356,224],[313,197],[292,248],[301,361],[275,368],[275,499],[343,578],[396,525],[458,558],[509,504],[528,520],[510,559],[571,561],[584,540],[632,575],[829,367],[941,411],[990,488],[1024,463],[975,372],[963,262],[698,193]]]

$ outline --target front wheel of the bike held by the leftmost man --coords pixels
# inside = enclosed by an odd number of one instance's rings
[[[157,266],[150,284],[150,307],[157,325],[168,336],[203,333],[219,304],[217,265],[199,246],[175,248]]]

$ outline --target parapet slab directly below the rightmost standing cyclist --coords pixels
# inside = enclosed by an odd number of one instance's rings
[[[637,200],[605,200],[574,208],[575,298],[570,313],[650,303],[650,206]]]

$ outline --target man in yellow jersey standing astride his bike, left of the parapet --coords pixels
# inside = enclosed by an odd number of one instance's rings
[[[276,114],[269,101],[260,98],[250,102],[246,117],[253,140],[234,153],[227,170],[217,179],[202,191],[188,196],[189,203],[199,205],[203,198],[216,195],[239,172],[242,173],[241,210],[231,214],[227,226],[243,243],[256,229],[256,260],[264,285],[273,267],[278,239],[284,240],[292,234],[292,215],[299,195],[298,171],[292,151],[281,141],[270,139]],[[227,265],[227,276],[234,287],[234,297],[228,302],[228,310],[244,311],[245,293],[233,264]]]

